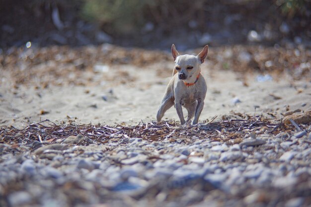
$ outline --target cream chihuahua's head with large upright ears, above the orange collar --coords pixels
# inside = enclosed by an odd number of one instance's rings
[[[200,72],[200,65],[204,63],[204,60],[208,53],[208,46],[206,45],[199,55],[180,55],[172,45],[171,48],[172,56],[175,61],[175,71],[178,72],[178,78],[181,80],[188,80],[191,77],[196,77]]]

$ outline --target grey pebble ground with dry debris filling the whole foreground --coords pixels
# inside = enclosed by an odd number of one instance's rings
[[[288,137],[252,120],[248,138],[249,124],[230,123],[38,127],[44,144],[1,128],[0,206],[310,206],[310,127],[286,128]],[[228,134],[213,130],[224,126]]]

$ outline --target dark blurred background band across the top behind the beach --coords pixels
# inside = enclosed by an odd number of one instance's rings
[[[311,46],[310,0],[0,0],[0,47]]]

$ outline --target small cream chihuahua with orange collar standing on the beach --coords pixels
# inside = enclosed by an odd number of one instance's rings
[[[175,105],[180,123],[183,125],[186,123],[181,108],[183,106],[188,111],[187,123],[190,123],[194,117],[192,124],[195,125],[203,110],[207,90],[200,65],[204,63],[207,56],[208,45],[197,56],[180,55],[174,44],[171,52],[175,61],[173,77],[166,87],[156,119],[158,122],[161,121],[164,113]]]

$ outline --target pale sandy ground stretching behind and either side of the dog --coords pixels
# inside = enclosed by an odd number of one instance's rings
[[[0,125],[23,127],[45,119],[56,123],[126,124],[156,121],[156,112],[171,75],[173,63],[163,62],[148,68],[115,66],[98,77],[112,75],[114,80],[88,86],[50,86],[36,89],[10,84],[10,74],[2,73],[0,87]],[[311,83],[293,81],[289,76],[258,82],[258,74],[231,70],[215,71],[202,65],[208,91],[199,122],[239,118],[239,113],[282,118],[286,110],[311,110]],[[132,81],[119,84],[118,74],[126,72]],[[239,103],[233,103],[238,99]],[[256,107],[256,111],[255,111]],[[184,110],[185,112],[185,110]],[[184,113],[186,114],[186,112]],[[172,107],[163,120],[179,121]]]

